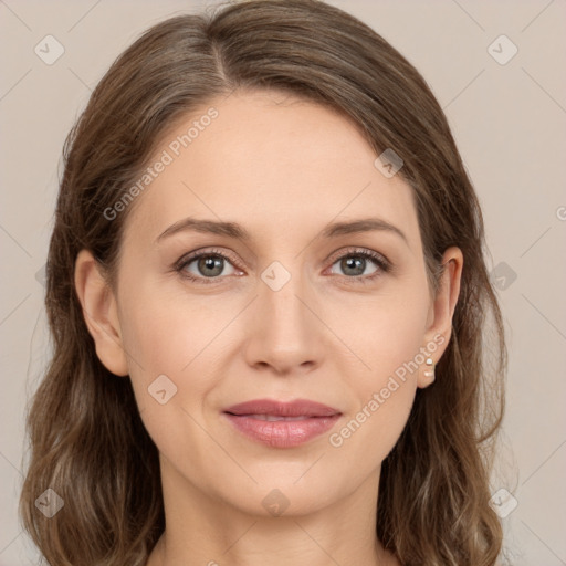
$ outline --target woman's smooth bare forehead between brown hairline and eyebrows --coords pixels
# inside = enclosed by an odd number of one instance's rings
[[[213,117],[212,117],[213,116]],[[237,92],[179,120],[149,163],[167,161],[132,210],[127,231],[158,232],[191,216],[231,220],[250,233],[378,216],[419,240],[412,189],[385,177],[352,120],[276,92]]]

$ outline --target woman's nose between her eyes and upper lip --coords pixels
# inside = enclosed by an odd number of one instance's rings
[[[277,375],[304,374],[319,365],[328,338],[318,303],[305,276],[271,264],[259,281],[247,322],[248,363]]]

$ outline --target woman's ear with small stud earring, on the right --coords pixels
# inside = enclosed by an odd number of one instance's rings
[[[460,248],[448,248],[442,255],[443,272],[439,281],[437,295],[429,308],[427,331],[424,333],[424,354],[438,364],[448,347],[452,334],[452,317],[460,294],[464,259]],[[418,373],[417,387],[424,388],[434,381],[433,366],[424,366]]]

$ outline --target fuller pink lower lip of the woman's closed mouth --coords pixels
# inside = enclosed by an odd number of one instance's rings
[[[226,413],[228,420],[247,437],[273,448],[292,448],[324,434],[340,415],[305,417],[303,420],[260,420],[250,416]]]

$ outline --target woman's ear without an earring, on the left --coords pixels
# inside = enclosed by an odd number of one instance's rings
[[[116,300],[101,265],[87,250],[82,250],[75,261],[75,290],[99,360],[113,374],[127,376]]]

